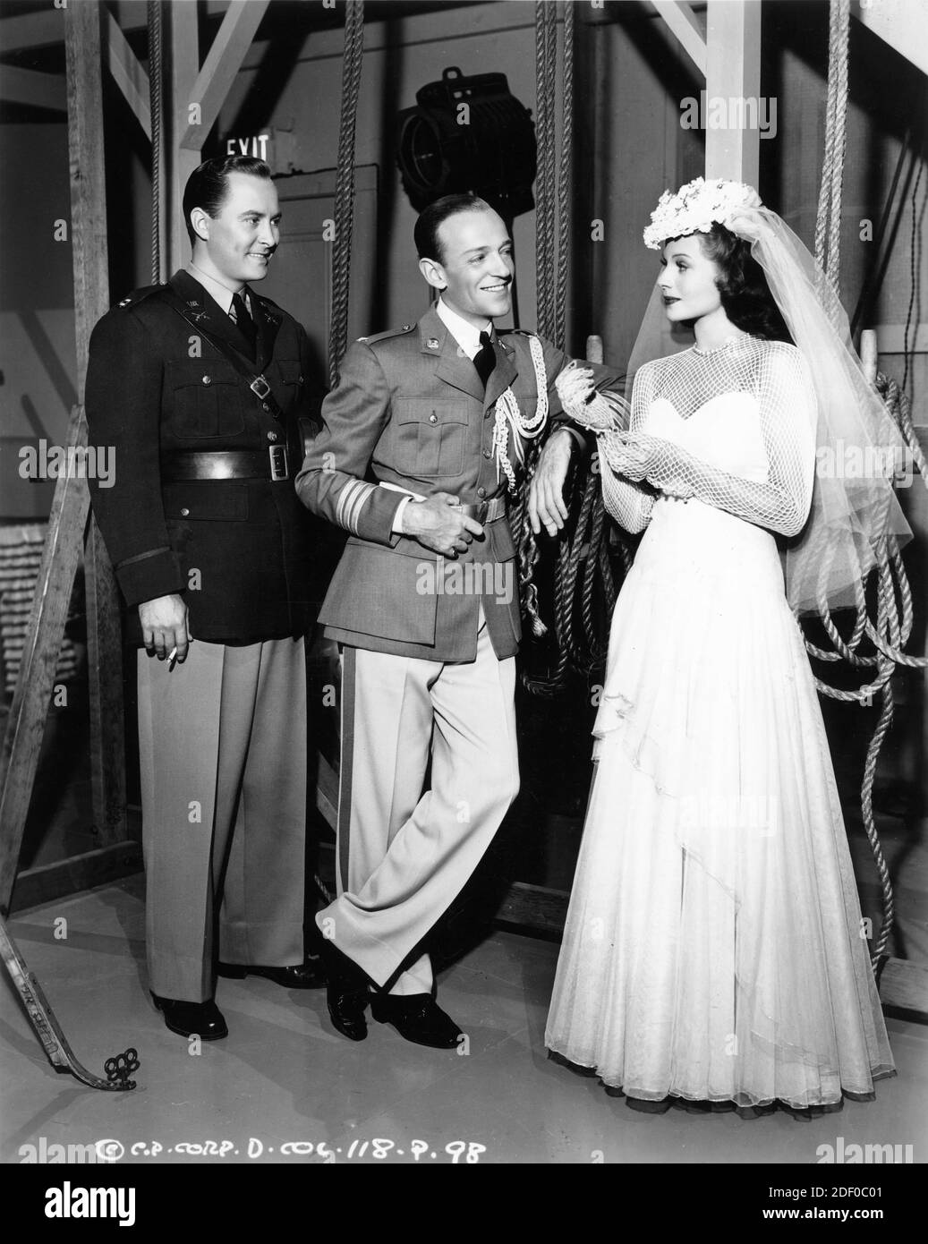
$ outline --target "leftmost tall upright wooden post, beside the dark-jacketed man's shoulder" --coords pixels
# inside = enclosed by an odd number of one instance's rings
[[[65,27],[71,245],[75,271],[77,399],[83,402],[93,325],[109,309],[103,162],[102,17],[98,4],[71,5]],[[119,463],[116,463],[119,470]],[[87,679],[93,817],[100,845],[119,842],[126,824],[126,733],[122,707],[119,593],[91,518],[85,554]]]

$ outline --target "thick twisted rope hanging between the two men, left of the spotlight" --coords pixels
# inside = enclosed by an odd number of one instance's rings
[[[328,331],[328,382],[338,383],[338,364],[348,347],[348,277],[355,225],[355,131],[361,67],[364,55],[364,2],[345,6],[342,106],[338,128],[338,169],[335,179],[335,241],[332,243],[332,323]]]

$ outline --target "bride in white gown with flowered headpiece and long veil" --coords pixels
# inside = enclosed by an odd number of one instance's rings
[[[794,610],[852,603],[907,531],[887,479],[826,478],[822,447],[898,437],[811,256],[759,204],[702,178],[662,198],[646,241],[695,345],[638,369],[627,430],[582,369],[559,383],[598,433],[607,509],[644,535],[545,1040],[644,1110],[807,1110],[893,1074]]]

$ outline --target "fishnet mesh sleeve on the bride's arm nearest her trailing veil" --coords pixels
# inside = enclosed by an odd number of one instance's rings
[[[738,387],[755,391],[760,430],[766,450],[765,480],[744,479],[719,470],[668,440],[643,438],[652,449],[646,478],[658,490],[695,496],[708,505],[758,526],[792,536],[809,516],[815,469],[815,399],[797,350],[771,343],[756,361],[755,383]],[[740,367],[746,366],[741,360]],[[733,378],[734,379],[734,378]],[[679,396],[677,409],[692,409]]]

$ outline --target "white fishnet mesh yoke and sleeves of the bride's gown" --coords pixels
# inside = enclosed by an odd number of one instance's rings
[[[722,470],[643,430],[653,425],[653,408],[661,399],[687,420],[726,394],[756,401],[766,457],[759,478]],[[801,356],[784,342],[741,336],[719,350],[693,347],[656,360],[636,376],[629,432],[606,432],[600,438],[601,460],[605,458],[619,476],[610,478],[603,470],[603,499],[628,531],[647,525],[656,489],[670,496],[694,496],[748,522],[796,535],[812,496],[815,418]]]

